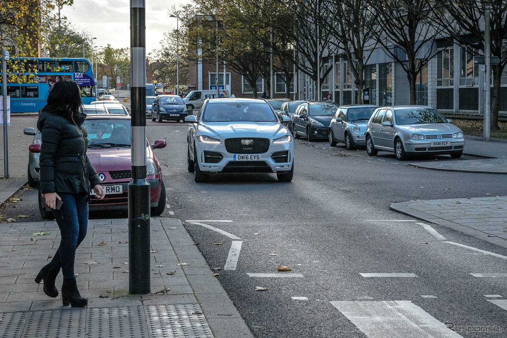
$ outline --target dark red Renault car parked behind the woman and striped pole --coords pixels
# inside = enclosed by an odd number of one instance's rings
[[[128,207],[128,183],[131,179],[131,135],[130,116],[95,114],[86,117],[83,126],[88,132],[88,158],[97,171],[104,187],[105,197],[95,198],[93,192],[89,203],[93,210],[126,210]],[[25,132],[26,133],[26,132]],[[159,216],[165,208],[165,186],[162,181],[160,164],[154,149],[164,148],[164,140],[153,144],[146,141],[146,169],[150,182],[151,215]],[[31,153],[41,151],[40,142],[32,143]],[[39,159],[39,157],[37,157]],[[39,167],[37,163],[37,167]],[[47,211],[39,194],[39,210],[44,219],[53,219]]]

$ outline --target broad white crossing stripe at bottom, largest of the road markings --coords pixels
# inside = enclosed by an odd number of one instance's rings
[[[369,338],[461,337],[410,301],[330,303]]]

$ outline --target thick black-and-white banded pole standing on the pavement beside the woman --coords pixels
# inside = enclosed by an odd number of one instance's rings
[[[146,0],[130,0],[132,179],[128,184],[129,293],[150,293],[150,183],[146,179]]]

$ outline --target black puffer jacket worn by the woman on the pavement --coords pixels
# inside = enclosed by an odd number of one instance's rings
[[[63,107],[46,105],[39,111],[37,128],[42,133],[39,162],[43,194],[88,194],[91,187],[100,184],[86,156],[88,134],[82,126],[85,118],[85,114],[71,114]]]

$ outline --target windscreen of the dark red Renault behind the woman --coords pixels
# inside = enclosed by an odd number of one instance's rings
[[[91,119],[83,122],[88,133],[88,147],[130,147],[130,120]]]

